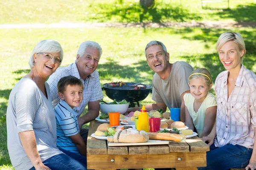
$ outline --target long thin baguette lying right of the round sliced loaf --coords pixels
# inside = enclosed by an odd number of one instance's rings
[[[175,141],[175,142],[185,142],[186,136],[178,135],[174,133],[148,133],[149,139],[154,140],[165,140],[165,141]]]

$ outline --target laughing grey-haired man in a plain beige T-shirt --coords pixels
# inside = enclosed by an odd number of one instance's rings
[[[166,46],[159,41],[151,41],[145,48],[148,66],[155,72],[153,76],[152,99],[156,103],[148,104],[148,111],[163,108],[180,108],[180,121],[185,122],[185,105],[183,96],[190,93],[188,80],[193,71],[191,65],[180,61],[169,62]],[[141,107],[129,108],[127,112],[139,111]]]

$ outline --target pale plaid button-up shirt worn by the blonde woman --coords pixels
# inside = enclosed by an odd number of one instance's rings
[[[253,148],[256,127],[256,75],[241,66],[235,88],[228,98],[227,77],[223,71],[215,81],[217,119],[215,146],[239,144]]]

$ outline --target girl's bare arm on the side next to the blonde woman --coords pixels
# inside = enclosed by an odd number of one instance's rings
[[[212,127],[216,119],[216,114],[217,114],[217,106],[212,106],[206,109],[206,115],[204,118],[204,129],[201,136],[199,136],[200,138],[204,136],[208,136],[209,133],[211,133]]]

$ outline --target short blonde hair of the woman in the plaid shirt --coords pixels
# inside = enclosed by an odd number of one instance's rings
[[[244,54],[246,53],[244,39],[241,34],[237,32],[224,32],[221,34],[216,45],[217,51],[219,52],[221,47],[229,41],[235,42],[238,45],[239,51],[244,50]],[[244,55],[241,57],[241,62],[243,61],[243,57]]]

